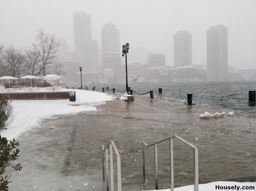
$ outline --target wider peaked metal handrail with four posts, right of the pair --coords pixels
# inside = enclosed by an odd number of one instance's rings
[[[155,186],[156,190],[158,190],[158,166],[157,166],[157,144],[163,141],[169,140],[169,146],[170,146],[170,187],[171,191],[174,191],[174,176],[173,176],[173,138],[177,138],[181,140],[182,142],[186,143],[190,147],[193,148],[194,151],[194,191],[198,191],[198,149],[194,145],[190,144],[189,142],[185,141],[184,139],[178,137],[178,136],[173,136],[169,137],[167,139],[155,142],[153,144],[147,145],[144,141],[142,141],[142,160],[143,160],[143,178],[145,178],[145,148],[149,146],[155,147]]]

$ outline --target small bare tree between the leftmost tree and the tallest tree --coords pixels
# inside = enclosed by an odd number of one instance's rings
[[[26,74],[38,76],[41,71],[42,67],[40,66],[41,58],[39,54],[35,51],[26,51],[25,55],[25,67],[26,67]]]

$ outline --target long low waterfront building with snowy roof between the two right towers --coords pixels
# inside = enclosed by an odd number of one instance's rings
[[[172,81],[202,81],[205,80],[203,68],[199,65],[184,66],[167,69]]]

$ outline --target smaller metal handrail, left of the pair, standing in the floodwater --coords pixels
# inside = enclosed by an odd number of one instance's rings
[[[116,154],[116,163],[117,163],[117,191],[122,191],[121,184],[121,160],[119,152],[116,149],[114,141],[110,141],[109,144],[104,148],[102,145],[102,176],[103,181],[106,179],[106,189],[109,191],[109,156],[108,156],[108,147],[110,155],[110,189],[114,191],[114,173],[113,173],[113,148]],[[104,151],[105,151],[105,162],[104,162]],[[106,163],[106,165],[104,165]],[[105,178],[105,167],[106,167],[106,178]]]

